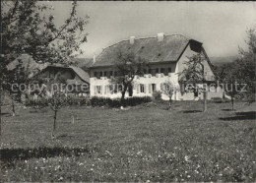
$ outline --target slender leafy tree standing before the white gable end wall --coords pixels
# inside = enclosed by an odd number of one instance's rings
[[[194,86],[194,91],[198,90],[198,84],[203,83],[204,85],[204,110],[207,110],[207,94],[208,86],[206,84],[205,78],[205,68],[203,62],[206,60],[205,56],[201,53],[188,57],[188,61],[184,64],[186,65],[185,69],[180,72],[179,79],[181,83],[192,84]]]

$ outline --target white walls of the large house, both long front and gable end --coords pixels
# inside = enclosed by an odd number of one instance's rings
[[[182,72],[185,68],[184,62],[188,61],[187,57],[192,56],[193,54],[197,54],[193,50],[190,49],[190,46],[187,46],[186,50],[180,57],[178,62],[171,62],[168,63],[156,63],[151,64],[148,69],[152,71],[156,71],[159,69],[159,73],[154,76],[154,74],[145,74],[144,76],[136,76],[134,79],[134,88],[133,88],[133,96],[152,96],[154,91],[160,91],[160,85],[166,81],[170,81],[174,85],[178,85],[178,73]],[[214,74],[209,66],[209,63],[205,61],[205,74],[210,78],[213,79]],[[165,75],[160,72],[161,68],[171,68],[170,72],[165,72]],[[100,67],[100,68],[92,68],[91,69],[91,78],[90,78],[90,93],[92,96],[98,97],[121,97],[121,91],[113,92],[109,91],[109,85],[111,84],[111,79],[109,77],[104,76],[104,72],[114,73],[111,67]],[[101,77],[95,77],[95,73],[101,73]],[[110,87],[111,88],[111,87]],[[155,89],[154,89],[155,88]],[[223,92],[209,92],[208,98],[211,97],[222,97]],[[126,97],[129,97],[129,92],[126,92]],[[199,92],[199,98],[203,98],[203,93]],[[162,94],[162,99],[168,99],[167,95]],[[172,95],[173,100],[193,100],[194,99],[194,92],[185,92],[181,94],[180,91],[176,92]]]

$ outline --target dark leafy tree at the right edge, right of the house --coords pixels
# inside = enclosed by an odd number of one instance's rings
[[[235,98],[246,96],[255,101],[256,90],[256,34],[248,30],[248,49],[239,48],[240,57],[232,63],[217,68],[218,80],[224,84],[224,91],[231,97],[232,110]],[[244,88],[246,85],[246,88]]]

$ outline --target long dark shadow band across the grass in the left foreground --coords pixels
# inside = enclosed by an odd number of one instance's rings
[[[87,148],[37,148],[37,149],[3,149],[1,161],[12,162],[14,160],[26,160],[30,158],[48,158],[54,156],[80,156],[90,151]]]

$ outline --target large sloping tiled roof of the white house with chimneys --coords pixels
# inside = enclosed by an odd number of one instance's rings
[[[92,67],[113,65],[117,58],[117,52],[132,52],[150,63],[177,61],[190,40],[193,39],[182,34],[164,35],[162,41],[158,41],[158,37],[138,38],[135,39],[134,44],[130,44],[129,40],[122,40],[103,49],[96,57],[96,63]]]

